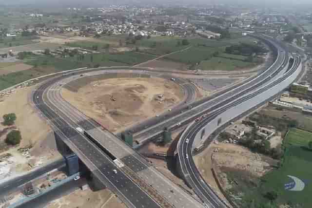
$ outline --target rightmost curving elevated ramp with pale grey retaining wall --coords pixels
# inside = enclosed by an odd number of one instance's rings
[[[300,70],[297,69],[300,68],[300,63],[300,57],[295,57],[292,67],[288,71],[285,71],[281,77],[275,79],[275,81],[263,86],[262,88],[239,97],[234,102],[228,103],[227,105],[210,112],[207,117],[202,119],[200,122],[192,123],[185,130],[185,132],[183,132],[177,145],[178,160],[181,166],[182,174],[184,175],[187,183],[195,189],[196,194],[201,198],[202,201],[205,202],[205,204],[209,205],[209,207],[222,208],[226,207],[226,205],[210,188],[210,186],[205,183],[195,166],[192,155],[194,152],[195,140],[201,140],[198,132],[214,121],[214,124],[211,124],[213,128],[211,127],[209,129],[210,131],[208,132],[208,135],[205,135],[205,137],[210,139],[208,142],[211,142],[211,137],[208,136],[210,136],[211,133],[218,129],[219,125],[221,126],[222,124],[229,122],[231,119],[234,119],[249,109],[266,102],[268,99],[271,99],[272,96],[289,86],[299,74]],[[237,106],[239,107],[237,108]],[[222,117],[223,121],[218,125],[216,124],[217,122],[215,122],[215,120],[220,117]],[[190,156],[186,157],[186,155]]]

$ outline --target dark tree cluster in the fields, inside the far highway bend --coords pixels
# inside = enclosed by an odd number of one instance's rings
[[[226,47],[225,52],[228,54],[250,56],[266,53],[267,50],[259,45],[240,43]]]

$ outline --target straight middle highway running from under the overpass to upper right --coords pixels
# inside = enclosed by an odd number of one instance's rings
[[[248,78],[243,83],[239,83],[215,94],[214,96],[190,104],[193,107],[191,110],[188,109],[188,106],[183,106],[182,108],[177,108],[172,112],[165,114],[161,118],[153,118],[139,126],[131,128],[130,131],[134,133],[134,138],[141,142],[137,147],[151,139],[159,137],[165,127],[175,130],[179,128],[176,126],[177,123],[180,122],[182,126],[186,125],[195,120],[196,116],[208,113],[213,109],[223,106],[230,100],[244,95],[251,90],[257,89],[265,83],[273,81],[274,77],[277,75],[282,74],[284,68],[288,65],[289,55],[288,53],[285,53],[279,44],[276,44],[272,40],[267,41],[267,44],[272,45],[275,50],[278,51],[275,62],[268,69],[260,72],[255,77]]]

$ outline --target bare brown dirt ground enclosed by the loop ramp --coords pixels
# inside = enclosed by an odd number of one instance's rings
[[[62,89],[61,93],[64,99],[112,132],[156,116],[184,97],[175,82],[156,77],[104,79],[91,82],[78,92]]]

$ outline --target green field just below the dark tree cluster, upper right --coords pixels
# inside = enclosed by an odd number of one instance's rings
[[[201,70],[224,70],[232,71],[239,70],[245,67],[253,66],[254,63],[245,62],[242,60],[229,59],[223,57],[212,57],[209,60],[200,62],[197,69]]]

